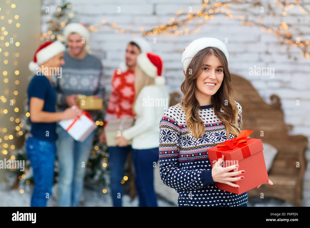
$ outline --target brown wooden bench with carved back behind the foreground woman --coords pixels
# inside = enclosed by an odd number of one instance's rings
[[[281,101],[277,95],[270,96],[271,105],[266,104],[249,81],[235,74],[231,76],[235,89],[234,100],[242,106],[243,130],[253,130],[251,138],[262,139],[278,150],[268,172],[273,185],[265,183],[259,189],[248,191],[248,196],[260,196],[264,193],[264,196],[300,206],[306,169],[307,137],[287,134],[292,126],[284,123]],[[296,167],[298,164],[299,167]]]

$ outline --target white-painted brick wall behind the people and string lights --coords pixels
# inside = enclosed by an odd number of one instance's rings
[[[135,31],[140,27],[145,30],[153,29],[155,26],[166,24],[171,17],[175,17],[178,10],[188,11],[188,7],[193,8],[193,12],[200,10],[199,0],[74,0],[70,1],[71,9],[75,11],[76,18],[86,25],[100,24],[103,19],[107,22],[117,23],[123,28],[131,26]],[[211,1],[215,3],[215,1]],[[310,17],[309,13],[299,11],[294,6],[287,11],[287,16],[282,16],[283,8],[277,3],[268,0],[260,1],[264,7],[264,13],[260,13],[260,6],[253,6],[252,1],[245,3],[232,3],[228,7],[230,13],[236,16],[244,16],[255,21],[263,20],[268,27],[277,27],[284,21],[288,24],[288,30],[293,34],[293,39],[302,38],[303,41],[310,39]],[[310,1],[305,0],[304,7],[310,9]],[[224,3],[224,2],[223,2]],[[56,7],[62,5],[60,0],[43,0],[42,9],[50,7],[50,11],[55,11]],[[121,7],[121,12],[117,13],[117,7]],[[270,13],[270,9],[275,15]],[[309,10],[308,10],[309,11]],[[50,14],[42,16],[42,33],[47,32],[47,21]],[[199,19],[192,20],[190,25],[181,29],[195,28]],[[179,28],[178,28],[179,29]],[[182,81],[183,69],[181,55],[187,44],[200,37],[216,37],[224,41],[228,38],[227,48],[229,52],[229,69],[231,73],[238,74],[249,80],[260,96],[267,102],[269,96],[276,94],[280,97],[282,108],[285,114],[285,122],[292,124],[293,130],[290,134],[302,134],[308,137],[310,142],[310,58],[300,54],[301,49],[286,44],[283,39],[262,31],[259,26],[243,26],[238,19],[225,19],[223,14],[215,14],[215,18],[200,27],[196,34],[188,36],[171,34],[160,34],[154,36],[157,43],[153,44],[153,51],[164,60],[164,75],[170,92],[179,91]],[[105,81],[109,89],[109,80],[113,69],[118,63],[124,60],[126,41],[129,34],[114,33],[114,29],[104,29],[101,27],[98,32],[91,34],[90,47],[92,53],[100,57],[104,63]],[[150,42],[153,36],[146,37]],[[307,50],[309,52],[309,49]],[[249,67],[274,67],[275,77],[250,76]],[[292,83],[294,82],[294,83]],[[300,105],[296,106],[296,100]],[[310,145],[310,143],[309,143]],[[307,150],[306,157],[310,163],[310,150]],[[310,170],[307,169],[309,177]],[[309,178],[305,179],[305,192],[310,192]],[[304,194],[305,202],[310,202],[309,194]]]

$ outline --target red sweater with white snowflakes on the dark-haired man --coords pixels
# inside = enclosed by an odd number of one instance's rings
[[[135,117],[132,113],[132,105],[135,101],[135,71],[127,69],[119,72],[119,69],[115,69],[111,79],[112,91],[109,96],[105,124],[110,118]]]

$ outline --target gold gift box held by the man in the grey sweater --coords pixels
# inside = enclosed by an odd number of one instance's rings
[[[78,94],[78,98],[75,100],[79,109],[81,110],[102,110],[103,99],[95,98],[94,96],[85,96]]]

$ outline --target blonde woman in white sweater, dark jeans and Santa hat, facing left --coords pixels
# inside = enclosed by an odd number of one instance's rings
[[[116,136],[119,146],[126,146],[132,140],[140,207],[157,207],[153,168],[159,159],[159,122],[170,101],[162,68],[160,56],[150,52],[139,54],[135,67],[136,98],[133,105],[137,118],[134,126],[122,131],[121,136]]]

